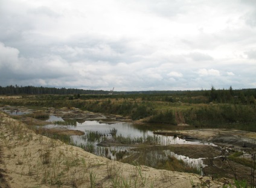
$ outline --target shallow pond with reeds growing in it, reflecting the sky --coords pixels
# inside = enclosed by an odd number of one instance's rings
[[[142,128],[143,125],[139,127],[138,125],[126,122],[106,123],[100,121],[81,121],[81,119],[79,119],[79,122],[76,122],[75,124],[61,125],[62,122],[67,120],[65,119],[64,121],[62,117],[57,116],[50,116],[47,121],[51,122],[51,124],[46,125],[45,128],[67,128],[85,132],[85,135],[83,136],[71,136],[72,143],[95,155],[107,157],[112,160],[128,157],[133,153],[132,148],[141,143],[161,146],[173,144],[213,145],[211,143],[203,143],[199,141],[191,142],[174,136],[155,135],[153,134],[153,131],[157,131],[157,128],[149,130],[145,127]],[[55,122],[58,122],[59,125]],[[102,146],[101,143],[104,142],[110,142],[110,145]],[[113,146],[111,143],[123,143],[123,145]],[[196,168],[198,171],[204,167],[202,158],[188,158],[184,155],[174,154],[174,152],[168,150],[165,150],[164,152],[151,151],[148,152],[147,155],[147,160],[152,163],[152,167],[155,167],[153,163],[157,163],[157,158],[163,160],[167,158],[167,156],[182,160],[187,166]]]

